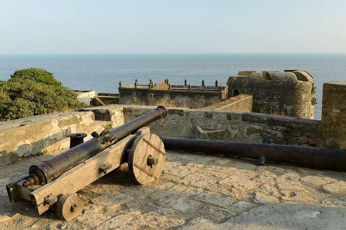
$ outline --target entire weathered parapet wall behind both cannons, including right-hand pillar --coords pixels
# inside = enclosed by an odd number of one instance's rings
[[[323,89],[322,120],[249,112],[168,108],[169,114],[150,125],[159,136],[198,138],[201,130],[217,133],[211,139],[346,149],[346,82],[328,82]],[[0,122],[0,165],[35,154],[54,154],[68,148],[67,134],[102,131],[155,109],[153,106],[110,105],[66,114],[39,115]]]

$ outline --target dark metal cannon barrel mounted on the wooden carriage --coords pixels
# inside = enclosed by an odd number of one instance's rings
[[[29,178],[23,182],[23,186],[28,187],[30,185],[44,185],[57,178],[70,168],[76,166],[80,162],[90,158],[96,153],[99,153],[100,151],[113,145],[145,125],[165,117],[166,115],[166,108],[159,106],[155,110],[139,116],[114,129],[105,129],[100,135],[93,132],[91,135],[93,135],[94,138],[63,153],[43,160],[38,164],[30,166]]]

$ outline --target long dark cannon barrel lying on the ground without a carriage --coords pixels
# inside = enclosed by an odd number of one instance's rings
[[[346,151],[305,146],[226,142],[161,137],[165,148],[296,164],[304,167],[346,171]]]

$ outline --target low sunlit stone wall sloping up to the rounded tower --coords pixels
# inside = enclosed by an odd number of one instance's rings
[[[241,94],[216,102],[203,110],[252,112],[253,96]]]

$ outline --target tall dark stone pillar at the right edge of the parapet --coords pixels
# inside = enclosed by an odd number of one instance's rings
[[[346,149],[346,81],[323,84],[322,124],[324,145]]]

